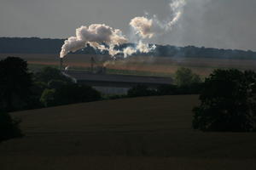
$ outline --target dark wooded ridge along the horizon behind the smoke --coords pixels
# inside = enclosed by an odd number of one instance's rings
[[[65,39],[38,37],[0,37],[0,53],[59,54],[64,41]],[[116,48],[122,49],[133,45],[129,43]],[[108,54],[108,52],[101,52],[92,47],[87,47],[75,54]],[[197,48],[195,46],[176,47],[171,45],[156,45],[153,52],[143,55],[183,58],[256,59],[256,52],[251,50]]]

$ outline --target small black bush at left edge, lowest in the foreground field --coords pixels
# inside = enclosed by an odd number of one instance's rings
[[[13,120],[8,113],[0,112],[0,142],[6,139],[21,137],[18,127],[20,121]]]

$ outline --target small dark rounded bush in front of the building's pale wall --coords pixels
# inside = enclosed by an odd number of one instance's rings
[[[140,96],[152,96],[156,95],[157,92],[154,89],[150,89],[144,85],[137,85],[136,87],[128,90],[128,97],[140,97]]]

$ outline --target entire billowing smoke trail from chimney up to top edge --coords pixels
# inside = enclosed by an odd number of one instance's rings
[[[113,29],[104,24],[94,24],[88,27],[81,26],[76,29],[76,37],[69,37],[64,42],[60,57],[63,58],[69,52],[76,52],[79,49],[85,48],[87,44],[90,44],[91,47],[96,49],[107,50],[112,56],[120,53],[124,54],[124,57],[137,52],[149,53],[154,50],[155,46],[149,46],[144,40],[171,31],[172,26],[177,23],[177,20],[179,20],[183,14],[183,6],[185,3],[185,0],[171,1],[169,4],[172,12],[171,20],[161,21],[158,20],[156,15],[151,19],[144,16],[132,19],[130,26],[139,37],[138,42],[133,42],[137,44],[136,47],[127,47],[123,50],[117,50],[115,46],[129,42],[128,39],[123,36],[122,31]]]

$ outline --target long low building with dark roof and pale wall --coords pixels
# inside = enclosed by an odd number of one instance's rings
[[[127,91],[137,85],[157,88],[172,84],[171,77],[142,77],[131,75],[96,74],[87,71],[66,71],[65,74],[74,81],[96,88],[103,94],[127,94]]]

